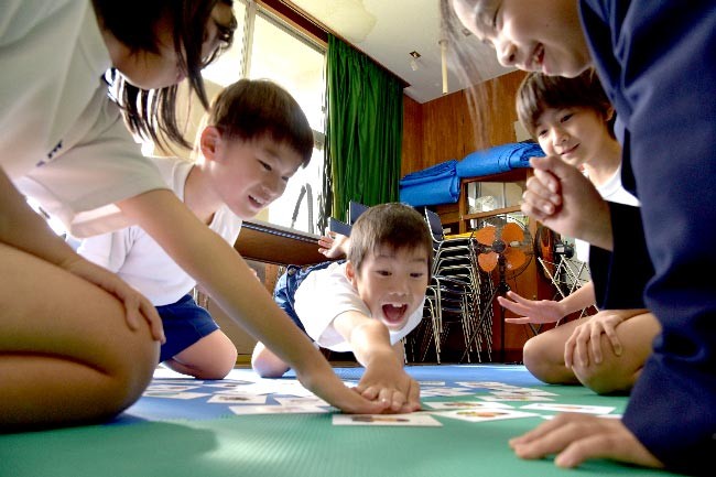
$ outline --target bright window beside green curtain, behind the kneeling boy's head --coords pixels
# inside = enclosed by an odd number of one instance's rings
[[[323,184],[325,139],[325,47],[253,1],[235,0],[234,6],[239,21],[234,45],[204,71],[204,77],[220,86],[241,77],[269,78],[299,101],[314,131],[311,163],[296,172],[283,196],[257,218],[317,232],[314,227]],[[301,204],[297,205],[300,197]]]

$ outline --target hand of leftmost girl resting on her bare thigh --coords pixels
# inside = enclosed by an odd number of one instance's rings
[[[129,286],[123,280],[115,273],[85,260],[78,254],[70,254],[67,260],[59,264],[70,273],[87,280],[100,289],[111,293],[124,305],[127,324],[130,329],[138,329],[140,322],[145,321],[152,332],[152,337],[165,343],[164,328],[162,318],[156,313],[152,303],[137,290]]]

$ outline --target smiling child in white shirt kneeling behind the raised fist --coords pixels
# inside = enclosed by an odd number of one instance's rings
[[[605,199],[639,205],[621,185],[614,108],[593,72],[575,78],[531,73],[518,90],[517,109],[520,122],[546,155],[558,155],[582,169]],[[577,242],[581,259],[586,259],[583,250],[588,252],[588,243]],[[642,292],[634,289],[632,295],[640,297]],[[588,282],[558,302],[527,300],[514,292],[498,301],[521,316],[506,322],[543,324],[595,305],[596,297],[594,284]],[[545,382],[581,382],[599,393],[628,391],[659,330],[659,322],[648,310],[605,310],[534,336],[524,345],[523,360],[530,372]]]

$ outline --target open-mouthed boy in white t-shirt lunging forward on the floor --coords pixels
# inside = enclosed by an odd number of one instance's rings
[[[276,283],[274,300],[318,346],[354,353],[366,367],[358,384],[365,397],[394,401],[391,383],[408,383],[409,395],[400,397],[406,401],[403,411],[415,411],[420,388],[403,369],[401,339],[423,317],[433,260],[427,225],[410,206],[378,205],[364,212],[348,240],[336,240],[326,254],[334,257],[338,248],[347,261],[290,267]],[[261,343],[251,365],[262,377],[289,370]]]

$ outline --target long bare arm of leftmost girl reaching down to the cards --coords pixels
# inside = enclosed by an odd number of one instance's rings
[[[370,402],[340,382],[328,361],[256,280],[241,256],[202,224],[172,192],[150,191],[118,205],[227,315],[289,364],[303,386],[346,412],[384,411],[384,404]]]

